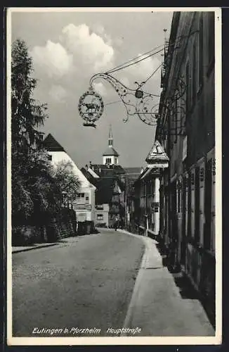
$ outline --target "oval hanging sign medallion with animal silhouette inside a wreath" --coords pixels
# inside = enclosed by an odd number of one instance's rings
[[[103,109],[103,99],[92,87],[79,99],[79,115],[86,122],[97,121],[103,114]]]

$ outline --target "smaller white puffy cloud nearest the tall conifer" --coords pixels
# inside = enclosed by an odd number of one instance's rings
[[[45,46],[34,46],[31,55],[35,68],[45,70],[49,77],[62,77],[72,68],[72,55],[60,43],[51,40]]]

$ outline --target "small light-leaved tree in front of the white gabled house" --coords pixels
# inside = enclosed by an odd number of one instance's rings
[[[55,182],[62,193],[65,192],[67,199],[72,202],[77,198],[81,182],[74,174],[73,165],[70,161],[60,161],[55,168]]]

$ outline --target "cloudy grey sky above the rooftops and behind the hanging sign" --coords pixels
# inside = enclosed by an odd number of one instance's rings
[[[82,166],[102,163],[107,149],[110,125],[114,149],[123,167],[145,166],[145,158],[155,142],[155,127],[145,125],[137,115],[126,118],[126,109],[109,82],[96,80],[94,89],[102,96],[105,108],[96,129],[84,127],[79,115],[79,98],[89,89],[92,75],[103,73],[164,44],[164,29],[169,38],[172,12],[106,12],[51,9],[11,13],[11,40],[25,40],[32,57],[37,88],[34,98],[47,103],[48,119],[42,131],[53,137]],[[145,81],[162,63],[161,53],[114,73],[129,88]],[[159,69],[144,90],[159,95]],[[112,103],[119,101],[118,103]],[[159,97],[155,97],[155,104]],[[110,104],[112,103],[112,104]],[[108,104],[108,105],[106,105]]]

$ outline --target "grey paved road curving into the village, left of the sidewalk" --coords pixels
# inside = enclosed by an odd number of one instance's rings
[[[110,336],[123,326],[143,250],[136,237],[103,231],[14,253],[13,337]]]

